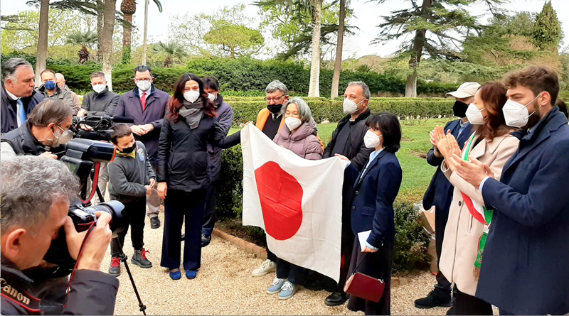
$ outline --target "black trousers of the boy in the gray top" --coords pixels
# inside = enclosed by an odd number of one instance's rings
[[[111,242],[111,256],[118,257],[124,246],[124,236],[130,226],[130,240],[134,250],[140,250],[144,247],[144,219],[147,213],[147,197],[139,197],[132,202],[123,203],[122,220],[117,224],[117,238],[119,246],[115,241]]]

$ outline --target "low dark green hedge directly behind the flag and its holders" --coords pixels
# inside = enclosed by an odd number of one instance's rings
[[[243,156],[241,146],[223,151],[216,214],[221,218],[242,218]],[[395,271],[409,271],[428,266],[427,241],[418,214],[410,202],[395,202]],[[260,235],[260,229],[244,227],[248,234]],[[257,236],[259,237],[259,236]]]

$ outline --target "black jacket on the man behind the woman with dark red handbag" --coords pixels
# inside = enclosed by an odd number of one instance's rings
[[[350,136],[348,138],[349,146],[346,146],[346,150],[343,153],[339,153],[341,155],[346,156],[351,161],[351,164],[361,171],[364,165],[368,162],[369,154],[372,153],[375,149],[374,148],[366,148],[366,145],[363,143],[363,136],[366,135],[368,131],[368,126],[366,126],[366,119],[371,116],[371,111],[367,109],[363,112],[360,116],[357,117],[355,123],[356,126],[352,126]],[[334,146],[336,146],[336,140],[338,138],[338,134],[344,127],[348,128],[346,124],[351,124],[350,122],[351,115],[346,115],[344,119],[339,121],[338,127],[332,133],[332,139],[328,146],[324,149],[324,154],[322,158],[330,158],[334,156]]]

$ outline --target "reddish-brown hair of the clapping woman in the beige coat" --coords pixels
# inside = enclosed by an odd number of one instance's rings
[[[484,124],[474,126],[474,131],[483,138],[492,141],[494,137],[507,134],[510,130],[502,113],[502,108],[508,101],[508,97],[506,97],[508,90],[500,82],[486,82],[478,90],[488,116],[486,116]]]

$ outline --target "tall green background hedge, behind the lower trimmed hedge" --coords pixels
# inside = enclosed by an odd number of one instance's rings
[[[36,56],[22,53],[0,55],[1,60],[11,57],[21,57],[35,63]],[[97,62],[88,62],[86,65],[77,65],[72,60],[48,59],[47,67],[65,75],[71,89],[90,89],[89,75],[101,69]],[[134,87],[132,82],[133,70],[136,65],[113,66],[112,85],[117,91],[127,91]],[[153,67],[156,77],[155,85],[166,92],[173,90],[174,82],[186,72],[194,72],[198,76],[213,75],[220,82],[222,91],[235,91],[243,96],[248,92],[262,95],[265,87],[272,80],[284,82],[292,94],[308,94],[310,70],[309,67],[296,62],[282,62],[278,60],[253,60],[249,58],[195,58],[186,65],[172,68]],[[320,94],[329,96],[332,82],[332,70],[320,71]],[[371,93],[405,94],[405,82],[389,75],[377,72],[343,71],[340,77],[340,90],[351,81],[363,81],[370,87]],[[437,82],[418,82],[418,94],[442,95],[457,88],[456,84],[442,84]]]

